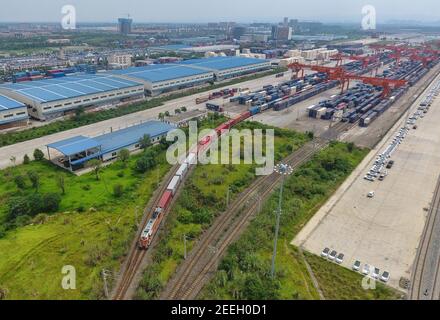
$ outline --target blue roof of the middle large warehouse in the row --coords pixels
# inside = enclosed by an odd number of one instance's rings
[[[143,81],[161,82],[210,73],[210,71],[174,63],[164,63],[115,70],[111,73],[115,75],[126,75],[134,79],[141,79]]]

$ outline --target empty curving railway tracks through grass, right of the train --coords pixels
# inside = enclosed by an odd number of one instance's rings
[[[328,140],[316,139],[286,157],[284,162],[297,169],[327,145]],[[273,173],[260,177],[244,191],[204,233],[188,259],[182,263],[168,283],[161,299],[194,299],[205,281],[209,279],[211,272],[215,271],[227,247],[236,239],[280,181],[281,177]]]

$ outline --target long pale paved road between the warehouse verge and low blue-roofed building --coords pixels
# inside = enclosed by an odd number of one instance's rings
[[[242,82],[240,84],[236,84],[232,87],[241,87],[241,88],[249,88],[251,90],[257,90],[262,88],[262,86],[267,84],[278,84],[283,81],[288,80],[290,77],[290,72],[285,72],[284,77],[275,78],[274,75],[263,77],[260,79],[250,80],[246,82]],[[231,87],[231,86],[229,86]],[[225,87],[226,88],[226,87]],[[212,91],[217,91],[212,90]],[[209,92],[212,92],[209,91]],[[125,128],[127,126],[131,126],[134,124],[138,124],[141,121],[157,119],[159,113],[169,111],[174,113],[176,108],[180,108],[182,106],[186,106],[188,110],[194,109],[203,109],[204,104],[195,105],[195,99],[197,97],[206,96],[209,92],[204,92],[201,94],[195,94],[192,96],[187,96],[179,99],[174,99],[166,102],[163,106],[156,107],[149,110],[144,110],[132,114],[128,114],[119,118],[109,119],[105,121],[101,121],[98,123],[94,123],[91,125],[83,126],[80,128],[75,128],[55,134],[51,134],[48,136],[44,136],[41,138],[20,142],[14,145],[6,146],[0,148],[0,169],[5,168],[12,165],[11,157],[14,156],[17,159],[17,164],[21,163],[25,154],[29,156],[32,155],[35,148],[39,148],[46,152],[46,145],[49,143],[53,143],[59,140],[67,139],[77,135],[84,135],[89,137],[94,137],[103,133],[110,132],[111,129],[118,130]],[[222,103],[222,98],[218,100],[214,100],[213,102]],[[46,155],[47,156],[47,155]]]

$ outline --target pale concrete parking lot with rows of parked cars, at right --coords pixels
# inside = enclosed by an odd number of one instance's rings
[[[431,107],[423,106],[429,95]],[[395,288],[401,277],[410,279],[440,174],[440,98],[434,97],[427,91],[417,100],[298,234],[295,245],[317,255],[326,247],[343,253],[341,265],[352,269],[358,260],[360,273],[365,264],[370,275],[379,269],[378,278],[387,271]]]

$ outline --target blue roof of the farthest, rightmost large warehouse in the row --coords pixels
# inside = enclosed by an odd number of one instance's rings
[[[254,64],[268,62],[266,59],[245,58],[245,57],[212,57],[205,59],[190,59],[179,62],[182,65],[191,65],[210,70],[225,70]]]

